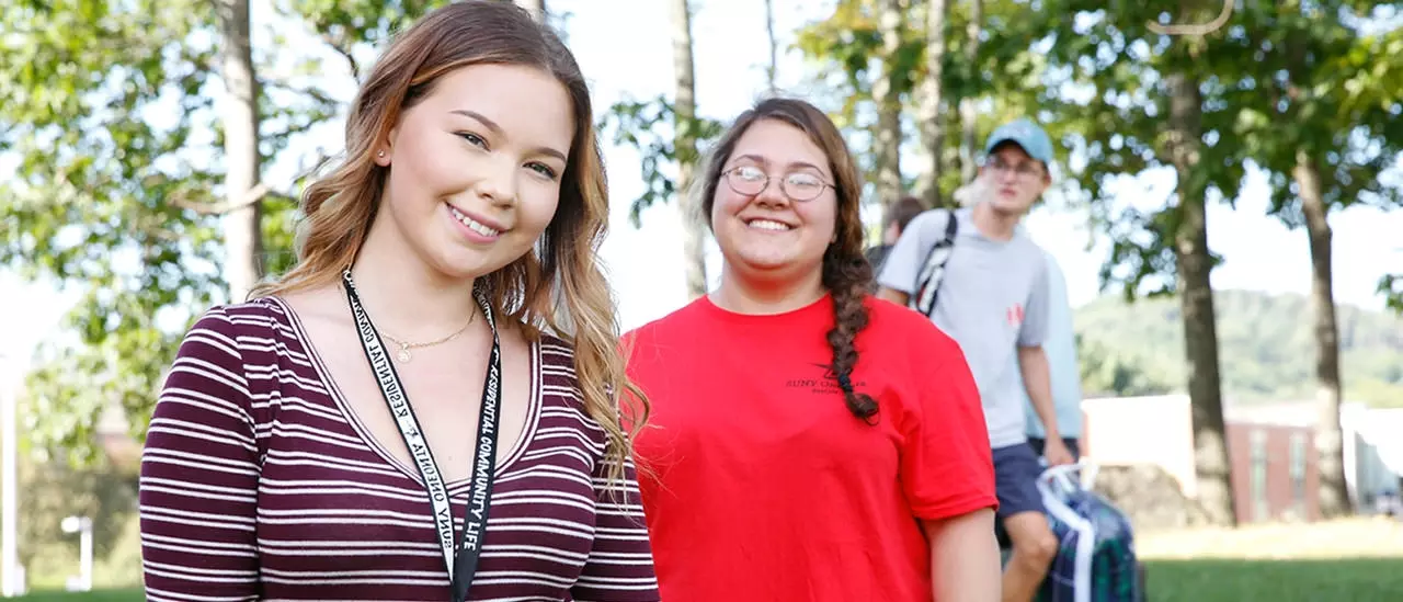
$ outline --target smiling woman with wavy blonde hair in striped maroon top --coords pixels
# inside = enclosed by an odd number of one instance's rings
[[[149,599],[658,601],[592,118],[511,3],[389,46],[303,198],[296,268],[206,312],[171,366]]]

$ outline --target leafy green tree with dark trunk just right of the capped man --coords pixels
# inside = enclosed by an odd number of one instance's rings
[[[1221,7],[1177,6],[1179,22],[1209,21]],[[1014,25],[1014,38],[1037,38],[1045,79],[1023,95],[1023,107],[1052,123],[1049,129],[1078,159],[1068,166],[1075,198],[1113,243],[1103,285],[1120,286],[1128,299],[1179,297],[1200,501],[1209,521],[1233,525],[1207,203],[1211,196],[1235,196],[1243,178],[1242,149],[1225,136],[1232,108],[1214,88],[1214,69],[1243,59],[1202,35],[1156,34],[1150,25],[1170,20],[1163,7],[1062,0],[1042,7],[1056,20],[1028,14],[1028,22]],[[1107,192],[1121,175],[1152,168],[1176,174],[1163,206],[1124,206]]]

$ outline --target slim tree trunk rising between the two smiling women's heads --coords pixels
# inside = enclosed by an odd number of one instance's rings
[[[692,10],[687,0],[672,0],[672,67],[676,74],[676,129],[673,147],[678,153],[678,209],[682,212],[682,251],[686,261],[687,297],[706,295],[706,222],[692,192],[692,175],[697,163],[696,140],[696,80],[692,62]]]

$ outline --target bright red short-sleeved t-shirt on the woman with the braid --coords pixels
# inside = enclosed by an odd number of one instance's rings
[[[629,333],[652,401],[637,455],[668,602],[930,602],[916,519],[996,507],[984,410],[960,347],[871,299],[843,403],[832,299],[746,316],[702,297]]]

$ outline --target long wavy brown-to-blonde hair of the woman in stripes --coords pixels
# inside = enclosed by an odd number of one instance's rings
[[[439,77],[469,65],[540,69],[570,93],[575,132],[556,216],[530,253],[478,278],[478,286],[499,314],[525,326],[528,337],[549,328],[574,347],[579,394],[607,434],[609,477],[617,480],[630,462],[631,435],[647,421],[648,400],[624,372],[615,302],[596,262],[609,227],[609,198],[589,90],[560,38],[512,3],[445,6],[390,44],[351,107],[344,161],[302,195],[296,267],[253,295],[285,295],[340,278],[380,206],[387,170],[375,163],[373,150]]]

